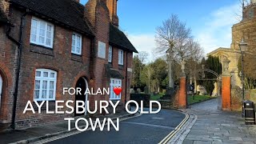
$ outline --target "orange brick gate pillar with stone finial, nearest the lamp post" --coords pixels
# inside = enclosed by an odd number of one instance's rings
[[[223,60],[222,73],[222,110],[231,110],[231,75],[229,72],[230,60]]]

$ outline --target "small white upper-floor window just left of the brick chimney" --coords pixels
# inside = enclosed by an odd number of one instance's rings
[[[82,54],[82,35],[81,34],[72,34],[72,54]]]

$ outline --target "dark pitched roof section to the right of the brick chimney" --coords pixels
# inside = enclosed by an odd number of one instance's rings
[[[119,46],[123,50],[138,53],[133,44],[131,44],[129,39],[126,37],[126,34],[112,24],[110,24],[110,44]]]

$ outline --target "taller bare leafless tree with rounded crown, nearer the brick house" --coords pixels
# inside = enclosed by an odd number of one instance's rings
[[[181,22],[178,16],[172,14],[170,18],[162,22],[162,26],[156,29],[155,41],[158,48],[158,54],[167,53],[168,71],[169,71],[169,87],[174,87],[172,61],[182,62],[189,54],[187,51],[191,38],[191,30],[186,27],[185,22]]]

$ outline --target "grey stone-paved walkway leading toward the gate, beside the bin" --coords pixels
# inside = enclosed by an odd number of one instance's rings
[[[245,125],[240,112],[214,109],[216,99],[201,102],[192,109],[184,110],[196,114],[198,119],[186,135],[185,144],[248,143],[256,142],[256,126]]]

